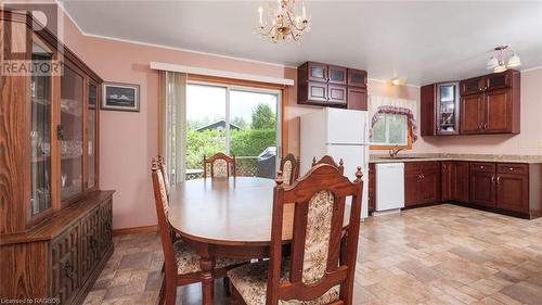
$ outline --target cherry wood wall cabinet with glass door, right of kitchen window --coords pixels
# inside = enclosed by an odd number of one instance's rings
[[[517,71],[423,86],[422,136],[519,134]]]

